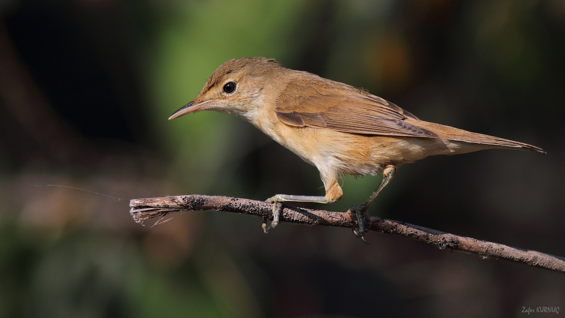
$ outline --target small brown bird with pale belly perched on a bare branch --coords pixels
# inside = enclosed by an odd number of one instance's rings
[[[279,65],[274,59],[231,59],[218,67],[193,101],[169,119],[202,110],[233,114],[249,121],[277,143],[320,171],[325,196],[278,194],[281,202],[333,203],[343,195],[342,175],[383,174],[369,199],[348,212],[357,216],[357,237],[364,235],[364,213],[399,165],[432,154],[458,154],[491,148],[527,149],[532,145],[420,121],[392,102],[347,84]],[[263,229],[266,224],[263,223]]]

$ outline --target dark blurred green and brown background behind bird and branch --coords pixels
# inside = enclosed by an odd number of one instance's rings
[[[138,197],[323,195],[315,167],[241,119],[167,121],[221,63],[263,56],[544,148],[401,166],[370,213],[565,256],[564,1],[2,0],[0,14],[1,317],[565,311],[549,270],[380,233],[128,213]],[[345,211],[379,181],[346,177],[341,201],[303,206]]]

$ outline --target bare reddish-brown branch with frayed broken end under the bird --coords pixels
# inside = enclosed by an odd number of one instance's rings
[[[170,212],[184,210],[245,213],[272,220],[272,203],[227,196],[181,195],[151,197],[149,199],[131,200],[129,206],[131,207],[130,213],[136,222],[142,222],[148,218],[158,216],[164,217]],[[286,207],[285,205],[281,209],[280,222],[357,227],[355,214],[293,208]],[[481,255],[485,258],[493,257],[565,273],[564,257],[486,242],[484,240],[460,237],[459,235],[380,217],[366,216],[365,222],[365,229],[367,230],[420,240],[441,249],[450,248],[451,250]]]

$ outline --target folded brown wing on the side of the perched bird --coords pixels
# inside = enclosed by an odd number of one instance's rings
[[[291,126],[328,128],[368,135],[431,137],[429,130],[408,123],[414,115],[383,98],[362,92],[313,94],[307,97],[282,98],[276,108],[277,118]]]

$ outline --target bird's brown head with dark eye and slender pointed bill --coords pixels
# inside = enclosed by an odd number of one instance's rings
[[[169,117],[174,119],[201,110],[215,110],[250,119],[250,110],[262,105],[264,78],[285,70],[274,59],[231,59],[212,73],[193,101]]]

